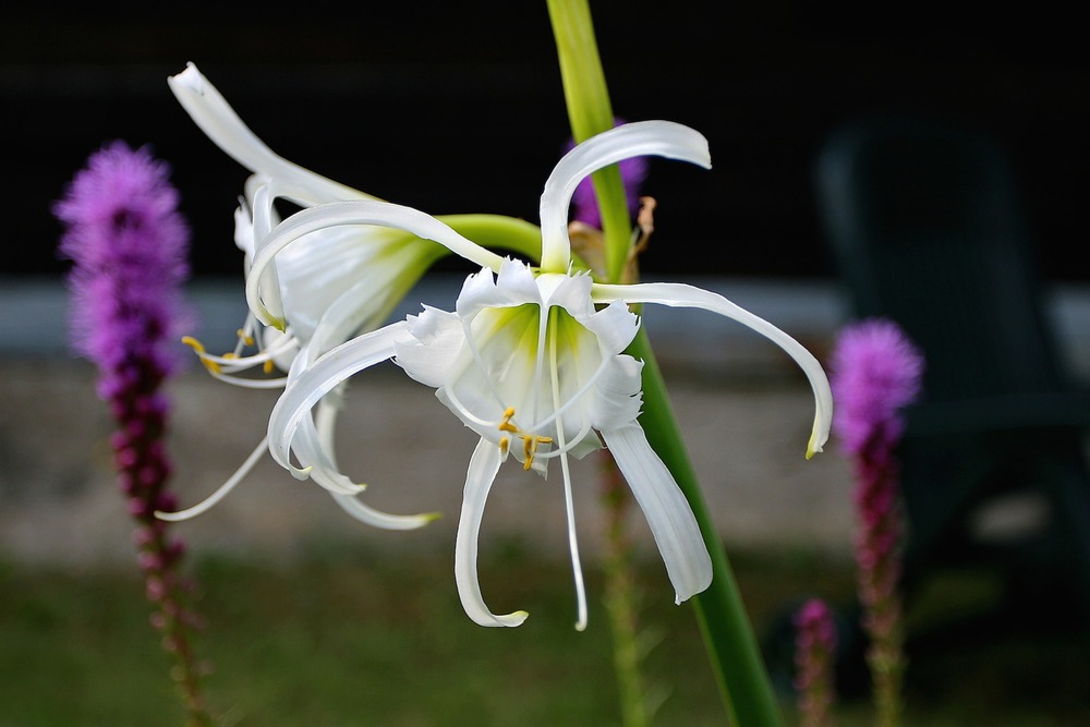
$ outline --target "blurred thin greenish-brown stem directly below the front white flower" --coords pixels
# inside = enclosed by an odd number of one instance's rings
[[[640,669],[644,653],[637,619],[640,598],[632,574],[632,544],[625,518],[630,495],[625,477],[608,450],[602,451],[602,485],[606,513],[605,605],[613,632],[621,724],[625,727],[645,727],[651,724],[652,710]]]

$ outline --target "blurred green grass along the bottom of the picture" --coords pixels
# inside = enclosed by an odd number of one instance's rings
[[[195,645],[211,669],[204,691],[219,724],[618,725],[601,573],[588,572],[590,627],[580,633],[566,562],[525,543],[487,550],[484,593],[494,610],[530,611],[518,629],[472,623],[438,554],[322,543],[291,561],[194,558],[206,620]],[[731,559],[759,633],[804,595],[850,602],[849,564],[803,553]],[[664,696],[655,725],[727,724],[692,609],[674,605],[661,562],[638,564],[638,587],[654,643],[645,678]],[[183,724],[135,566],[7,562],[0,593],[0,727]],[[1086,642],[1046,646],[996,639],[913,657],[909,673],[920,678],[906,726],[1090,724]],[[843,700],[838,717],[870,724],[865,696]]]

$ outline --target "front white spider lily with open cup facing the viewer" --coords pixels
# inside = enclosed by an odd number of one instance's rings
[[[274,459],[306,477],[322,459],[311,410],[349,377],[392,360],[436,395],[480,436],[470,459],[455,547],[455,577],[467,614],[482,626],[519,626],[525,611],[493,614],[476,572],[485,502],[499,467],[512,457],[545,474],[560,463],[578,597],[577,628],[586,602],[576,543],[569,457],[608,448],[650,523],[681,603],[707,587],[712,566],[692,510],[639,423],[642,363],[622,351],[637,335],[629,303],[698,307],[738,320],[780,346],[809,377],[815,398],[807,456],[828,436],[832,396],[821,365],[801,344],[726,299],[674,283],[601,284],[571,271],[567,210],[580,179],[633,156],[657,155],[711,167],[698,132],[666,121],[617,126],[580,144],[557,165],[541,202],[542,266],[502,258],[417,210],[382,202],[340,202],[305,209],[269,235],[262,255],[302,235],[343,225],[385,225],[427,238],[483,267],[470,276],[453,312],[425,307],[419,316],[363,334],[293,366],[269,419]],[[250,298],[258,319],[270,312]],[[298,360],[296,360],[298,363]],[[328,433],[325,438],[328,437]],[[292,462],[294,456],[298,465]],[[327,458],[328,459],[328,458]]]

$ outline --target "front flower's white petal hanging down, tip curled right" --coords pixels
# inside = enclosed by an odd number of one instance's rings
[[[465,492],[462,495],[462,511],[458,518],[458,535],[455,538],[455,582],[458,584],[458,597],[461,598],[465,615],[481,626],[520,626],[526,620],[526,611],[517,610],[498,616],[488,610],[481,595],[481,581],[477,580],[477,538],[481,532],[481,520],[484,517],[485,501],[488,490],[499,472],[502,456],[499,447],[481,439],[470,468],[465,473]]]

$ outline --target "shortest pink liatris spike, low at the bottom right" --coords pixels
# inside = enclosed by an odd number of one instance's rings
[[[833,727],[836,701],[836,625],[821,598],[807,601],[795,615],[795,688],[799,727]]]

